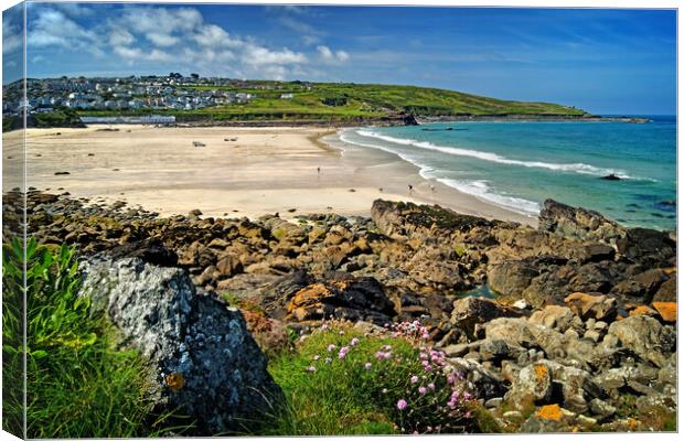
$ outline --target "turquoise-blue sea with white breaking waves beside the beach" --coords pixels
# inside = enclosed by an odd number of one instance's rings
[[[531,216],[551,197],[627,226],[674,229],[676,117],[649,118],[371,127],[341,139],[398,154],[425,179]],[[621,180],[600,179],[608,174]]]

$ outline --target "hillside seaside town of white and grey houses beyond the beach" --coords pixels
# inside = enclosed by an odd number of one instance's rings
[[[303,89],[310,85],[300,82]],[[56,108],[77,110],[195,110],[211,106],[246,104],[255,94],[239,90],[242,87],[278,90],[275,82],[255,84],[231,78],[183,76],[128,76],[107,78],[66,77],[26,79],[26,99],[22,96],[22,82],[3,86],[2,112],[17,115],[25,107],[29,114],[47,114]],[[293,94],[284,93],[280,99],[292,99]]]

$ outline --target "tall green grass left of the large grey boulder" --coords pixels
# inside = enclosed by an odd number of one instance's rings
[[[117,351],[105,318],[93,316],[89,301],[77,295],[81,273],[74,250],[62,246],[53,252],[31,239],[25,256],[28,437],[163,434],[161,422],[169,416],[151,415],[142,359],[136,352]],[[23,262],[19,240],[3,245],[6,287],[23,290]],[[3,334],[4,322],[15,321],[15,314],[3,310]],[[21,343],[9,336],[3,353],[21,353]]]

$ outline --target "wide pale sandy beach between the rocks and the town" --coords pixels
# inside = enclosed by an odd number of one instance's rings
[[[3,135],[3,191],[18,186],[12,171],[21,168],[22,136],[21,131]],[[195,141],[203,146],[193,146]],[[536,223],[533,217],[428,182],[414,165],[391,153],[353,146],[335,148],[340,146],[334,132],[301,127],[29,129],[26,185],[70,192],[92,203],[125,201],[161,215],[199,208],[205,216],[216,217],[256,218],[274,213],[284,218],[309,213],[368,216],[373,201],[384,198]],[[68,174],[55,175],[61,172]],[[408,191],[408,184],[414,191]]]

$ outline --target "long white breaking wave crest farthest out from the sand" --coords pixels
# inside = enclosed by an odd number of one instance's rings
[[[417,147],[417,148],[425,149],[425,150],[434,150],[434,151],[452,154],[457,157],[475,158],[482,161],[495,162],[499,164],[520,165],[520,166],[527,166],[527,168],[535,168],[535,169],[547,169],[547,170],[562,171],[562,172],[574,172],[574,173],[580,173],[580,174],[592,174],[597,176],[606,176],[609,174],[614,174],[616,176],[620,179],[632,179],[632,176],[628,175],[623,170],[603,169],[603,168],[599,168],[599,166],[595,166],[590,164],[585,164],[581,162],[554,163],[554,162],[542,162],[542,161],[521,161],[516,159],[510,159],[506,157],[502,157],[496,153],[483,152],[479,150],[461,149],[457,147],[443,147],[443,146],[437,146],[437,144],[434,144],[427,141],[417,141],[415,139],[388,137],[386,135],[376,133],[371,130],[357,130],[356,133],[361,135],[362,137],[375,138],[375,139],[380,139],[385,142],[392,142],[395,144],[412,146],[412,147]],[[373,147],[376,147],[376,146],[373,146]],[[376,147],[376,148],[380,148],[380,147]],[[383,149],[383,150],[394,152],[391,149]],[[394,153],[397,153],[397,152],[394,152]]]

